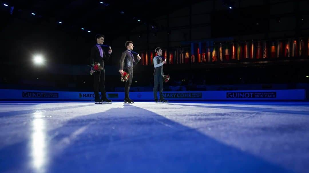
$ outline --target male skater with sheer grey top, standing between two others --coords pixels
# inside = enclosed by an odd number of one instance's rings
[[[122,74],[124,70],[129,74],[129,80],[125,82],[125,103],[134,103],[133,100],[129,98],[130,86],[132,84],[133,79],[133,65],[136,65],[138,61],[141,59],[139,54],[133,52],[133,42],[127,41],[125,42],[125,50],[120,59],[120,70],[119,73]],[[134,60],[133,54],[137,54],[137,61]]]

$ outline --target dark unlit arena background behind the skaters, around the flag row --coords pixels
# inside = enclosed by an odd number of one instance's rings
[[[154,52],[158,46],[190,48],[191,41],[206,39],[231,37],[237,42],[309,36],[308,1],[0,2],[1,88],[92,91],[93,76],[87,65],[95,34],[104,34],[104,44],[113,50],[105,62],[107,91],[124,86],[117,71],[127,40],[133,41],[134,51]],[[33,64],[36,54],[44,56],[44,66]],[[164,72],[171,81],[164,90],[170,86],[187,90],[306,88],[307,67],[307,56],[167,64]],[[139,63],[134,67],[133,87],[151,90],[152,75],[153,66]]]

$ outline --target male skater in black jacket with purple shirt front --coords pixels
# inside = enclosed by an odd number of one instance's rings
[[[104,42],[104,35],[97,34],[95,36],[96,45],[91,47],[90,57],[93,62],[98,62],[103,67],[103,70],[94,72],[94,92],[95,92],[95,104],[112,103],[112,100],[107,99],[105,91],[105,69],[104,60],[107,61],[110,54],[112,53],[112,48],[109,46],[108,57],[104,50],[102,49],[102,44]],[[99,96],[99,90],[101,91],[101,98]]]

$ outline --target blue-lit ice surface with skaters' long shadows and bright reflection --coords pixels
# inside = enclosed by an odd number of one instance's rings
[[[308,102],[0,103],[0,172],[308,171]]]

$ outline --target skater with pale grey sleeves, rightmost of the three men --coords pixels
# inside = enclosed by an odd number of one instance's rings
[[[160,47],[157,47],[155,49],[155,52],[157,53],[157,56],[154,57],[154,98],[155,103],[158,103],[159,101],[161,103],[167,103],[167,100],[163,98],[163,64],[166,64],[165,58],[163,58],[162,55],[162,49]],[[158,100],[158,86],[159,86],[159,93],[160,93],[160,100]]]

